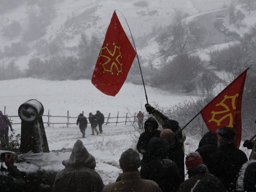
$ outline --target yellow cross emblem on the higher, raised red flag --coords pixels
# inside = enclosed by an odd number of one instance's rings
[[[103,71],[102,73],[110,72],[112,75],[114,75],[114,73],[113,73],[113,67],[115,67],[115,68],[117,69],[117,75],[119,75],[119,73],[122,73],[122,74],[123,74],[123,72],[122,72],[122,65],[123,65],[123,64],[120,63],[119,60],[118,60],[119,57],[122,58],[122,55],[121,55],[121,53],[120,53],[120,46],[117,47],[117,46],[115,45],[115,43],[113,43],[113,46],[115,46],[115,48],[114,48],[113,53],[111,53],[111,52],[109,51],[109,49],[108,49],[108,45],[109,45],[109,44],[107,43],[105,47],[102,47],[102,48],[100,49],[99,57],[104,57],[104,58],[107,59],[107,61],[106,61],[105,63],[99,63],[100,65],[102,65],[102,67],[103,67],[103,69],[104,69],[104,71]],[[103,54],[102,54],[102,51],[104,51],[104,50],[106,50],[106,51],[109,53],[109,55],[110,55],[111,57],[109,57],[109,56],[107,56],[107,55],[103,55]],[[117,51],[117,50],[118,50],[118,51]],[[117,55],[116,58],[114,57],[114,55]],[[111,63],[111,61],[112,61],[112,63]],[[110,66],[110,65],[107,65],[108,63],[111,63],[111,66]],[[105,65],[106,65],[106,66],[105,66]],[[110,68],[109,68],[109,66],[110,66]]]

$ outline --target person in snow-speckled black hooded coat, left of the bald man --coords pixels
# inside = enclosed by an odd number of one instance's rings
[[[156,181],[162,192],[176,192],[180,185],[179,169],[168,159],[169,143],[162,138],[152,138],[148,144],[149,162],[141,167],[142,179]]]

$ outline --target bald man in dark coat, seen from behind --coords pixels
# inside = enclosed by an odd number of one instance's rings
[[[161,131],[160,138],[166,139],[169,143],[168,158],[174,161],[180,173],[181,182],[185,179],[184,173],[184,151],[182,149],[181,140],[175,136],[172,130],[164,129]]]

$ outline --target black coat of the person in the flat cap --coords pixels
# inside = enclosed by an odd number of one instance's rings
[[[222,181],[228,192],[236,189],[238,173],[242,165],[248,161],[245,153],[237,149],[233,143],[224,144],[220,150],[211,154],[204,162],[210,173]]]

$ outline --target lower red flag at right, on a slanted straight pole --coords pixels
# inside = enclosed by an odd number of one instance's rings
[[[201,111],[205,124],[215,132],[222,127],[236,130],[236,147],[239,148],[242,135],[241,105],[245,85],[246,69]]]

